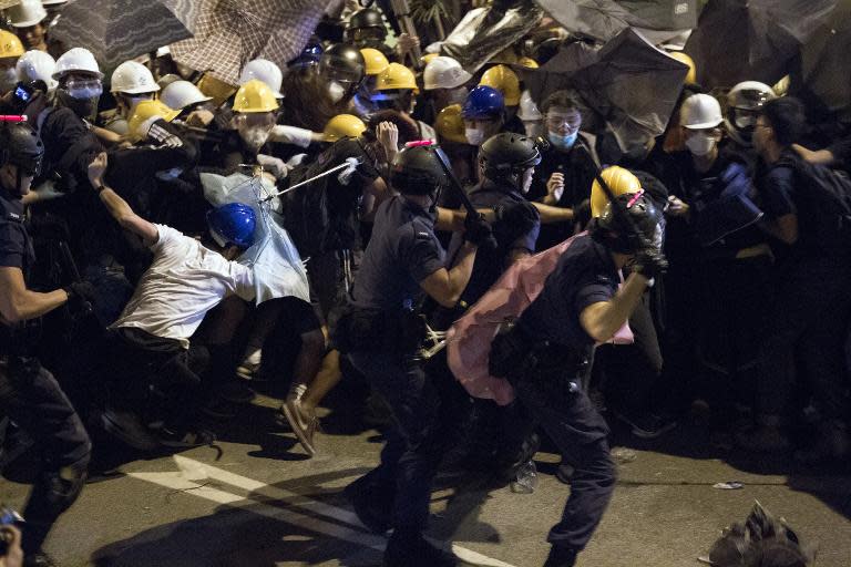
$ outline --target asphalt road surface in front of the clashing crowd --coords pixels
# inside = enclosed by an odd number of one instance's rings
[[[218,424],[221,454],[199,447],[146,460],[114,450],[99,455],[100,471],[48,550],[63,567],[380,565],[385,539],[358,523],[341,495],[377,463],[379,435],[332,412],[324,419],[319,454],[307,458],[277,423],[277,404],[260,396],[237,420]],[[339,396],[336,405],[345,405]],[[712,446],[687,424],[655,444],[615,433],[634,460],[619,465],[614,498],[581,567],[699,566],[698,556],[755,499],[818,548],[819,567],[851,565],[849,467],[803,470],[786,457],[748,457]],[[0,502],[22,506],[28,461],[24,454],[7,468]],[[469,565],[542,565],[546,532],[568,487],[553,475],[556,455],[542,451],[536,461],[533,494],[493,488],[481,475],[442,475],[430,536],[453,542]],[[744,487],[714,488],[728,481]]]

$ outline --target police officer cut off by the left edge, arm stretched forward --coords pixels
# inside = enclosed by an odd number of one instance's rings
[[[35,441],[43,467],[24,508],[25,565],[53,565],[41,545],[60,514],[79,496],[91,443],[80,417],[53,377],[32,355],[38,318],[92,297],[80,282],[47,293],[27,288],[32,241],[21,198],[38,174],[43,146],[24,124],[0,125],[0,415]]]

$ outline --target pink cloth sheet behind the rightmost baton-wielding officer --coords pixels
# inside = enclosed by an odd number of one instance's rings
[[[502,378],[488,372],[491,342],[500,323],[513,321],[535,300],[558,258],[573,244],[575,236],[534,256],[515,261],[447,333],[449,368],[473,398],[493,400],[507,405],[514,389]],[[630,344],[633,332],[625,324],[613,342]]]

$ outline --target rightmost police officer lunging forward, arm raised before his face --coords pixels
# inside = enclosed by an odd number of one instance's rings
[[[516,324],[494,340],[491,374],[505,377],[517,398],[575,467],[562,519],[550,532],[545,567],[571,567],[603,517],[615,486],[608,427],[578,385],[595,342],[626,322],[666,261],[650,244],[662,214],[644,195],[622,195],[578,236]],[[633,226],[625,221],[628,215]],[[644,238],[628,236],[633,229]],[[633,264],[623,287],[619,270]]]

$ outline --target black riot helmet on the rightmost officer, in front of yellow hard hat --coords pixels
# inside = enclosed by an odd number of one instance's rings
[[[603,209],[603,214],[594,219],[591,226],[592,237],[612,251],[634,254],[638,251],[639,244],[635,238],[629,237],[633,230],[629,226],[632,224],[638,229],[645,241],[657,249],[662,248],[662,212],[645,195],[644,190],[624,193],[618,195],[616,199],[621,205],[619,207],[613,206],[609,202]],[[623,209],[632,223],[628,223],[618,209]]]

